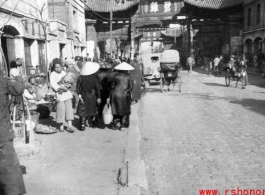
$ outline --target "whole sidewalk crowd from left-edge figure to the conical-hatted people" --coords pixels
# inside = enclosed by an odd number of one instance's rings
[[[34,104],[53,93],[56,98],[56,122],[59,131],[74,132],[72,121],[79,116],[78,129],[86,126],[99,127],[98,120],[103,114],[104,105],[111,105],[114,116],[109,128],[124,130],[129,127],[131,104],[141,98],[143,82],[139,54],[129,63],[107,58],[90,59],[77,56],[61,60],[55,58],[47,75],[39,66],[30,67],[27,77],[23,76],[22,60],[10,63],[9,77],[0,74],[0,194],[25,194],[21,166],[13,146],[15,138],[10,123],[10,98],[22,97]],[[46,86],[46,87],[45,87]],[[43,93],[41,93],[43,91]],[[17,102],[18,103],[18,102]],[[75,111],[75,112],[74,112]]]

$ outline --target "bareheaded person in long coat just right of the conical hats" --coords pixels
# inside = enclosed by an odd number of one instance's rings
[[[130,71],[130,74],[133,78],[134,82],[134,88],[132,90],[132,100],[135,102],[138,102],[138,100],[141,98],[142,95],[142,82],[144,82],[143,75],[141,73],[140,69],[140,56],[138,53],[134,54],[134,60],[131,62],[132,67],[134,67],[134,70]]]

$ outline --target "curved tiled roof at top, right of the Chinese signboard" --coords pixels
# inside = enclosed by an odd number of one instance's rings
[[[207,9],[223,9],[243,4],[244,0],[184,0],[185,3]]]

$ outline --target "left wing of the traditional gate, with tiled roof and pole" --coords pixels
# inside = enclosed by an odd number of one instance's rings
[[[110,0],[90,0],[87,1],[87,41],[90,47],[94,47],[94,53],[98,57],[105,54],[127,54],[130,55],[130,25],[131,17],[138,9],[139,0],[110,1]],[[112,12],[112,46],[110,46],[110,12]],[[92,22],[93,21],[93,22]],[[90,35],[89,35],[90,34]],[[96,42],[96,43],[95,43]],[[117,51],[120,44],[126,45],[122,48],[127,51]],[[127,56],[128,57],[128,56]]]

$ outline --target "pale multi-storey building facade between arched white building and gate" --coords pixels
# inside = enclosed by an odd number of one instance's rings
[[[54,50],[51,58],[85,57],[87,53],[85,2],[83,0],[48,0],[48,7],[49,19],[52,21],[51,48]]]

